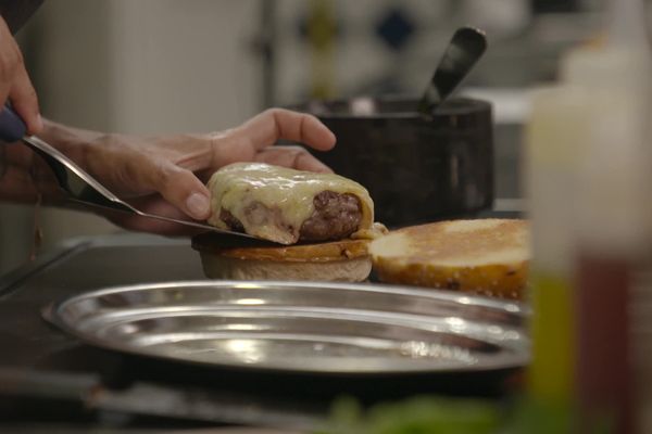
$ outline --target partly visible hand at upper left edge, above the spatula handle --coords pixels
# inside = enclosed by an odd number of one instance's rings
[[[7,23],[0,17],[0,107],[8,99],[27,125],[27,133],[40,132],[43,124],[39,115],[36,90],[25,71],[21,49]]]

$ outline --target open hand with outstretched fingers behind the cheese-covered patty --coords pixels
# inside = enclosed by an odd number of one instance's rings
[[[59,130],[57,129],[64,129]],[[70,152],[88,173],[136,208],[178,219],[205,220],[210,192],[204,183],[220,167],[235,162],[261,162],[301,170],[330,171],[301,146],[272,146],[285,139],[326,151],[335,136],[314,116],[287,110],[267,110],[239,127],[210,135],[134,137],[95,135],[49,124],[52,140],[85,142]],[[66,132],[67,131],[67,132]],[[76,139],[75,139],[76,138]],[[64,144],[65,148],[65,144]],[[187,228],[135,215],[108,214],[131,230],[189,234]]]

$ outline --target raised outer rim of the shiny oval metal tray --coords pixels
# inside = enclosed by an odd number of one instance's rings
[[[121,292],[130,291],[147,291],[152,289],[174,289],[174,288],[258,288],[258,286],[280,286],[280,288],[308,288],[308,289],[324,289],[324,290],[337,290],[337,291],[362,291],[372,293],[383,294],[397,294],[406,296],[419,296],[435,299],[443,299],[447,302],[457,303],[461,305],[474,305],[496,310],[502,310],[510,315],[523,317],[524,326],[518,329],[525,337],[522,337],[524,344],[521,352],[512,353],[512,357],[507,361],[487,363],[478,368],[477,366],[460,366],[454,368],[439,368],[439,369],[427,369],[422,367],[412,367],[410,369],[369,369],[369,370],[314,370],[314,369],[301,369],[296,368],[283,368],[277,366],[261,366],[251,365],[244,362],[212,362],[205,360],[191,360],[184,359],[180,357],[173,357],[170,355],[163,355],[155,352],[149,352],[147,349],[137,348],[133,345],[122,343],[120,341],[109,341],[97,337],[93,333],[86,333],[80,331],[58,315],[58,311],[64,308],[71,303],[75,303],[80,299],[98,297],[109,294],[115,294]],[[181,281],[168,281],[168,282],[152,282],[152,283],[137,283],[127,285],[112,285],[106,288],[100,288],[97,290],[75,294],[73,296],[63,297],[57,301],[48,303],[41,308],[41,317],[59,328],[59,330],[74,336],[80,343],[96,346],[112,352],[122,353],[125,355],[146,357],[149,359],[163,360],[166,362],[176,362],[185,366],[196,366],[211,369],[221,370],[233,370],[252,373],[269,373],[269,374],[291,374],[291,375],[318,375],[318,376],[397,376],[397,375],[440,375],[440,374],[455,374],[455,373],[480,373],[480,372],[494,372],[505,370],[517,370],[524,368],[530,359],[528,353],[529,339],[527,337],[527,330],[525,322],[530,315],[529,308],[519,302],[514,301],[500,301],[496,298],[484,297],[475,294],[460,293],[453,291],[444,291],[419,286],[405,286],[405,285],[393,285],[385,283],[341,283],[341,282],[318,282],[318,281],[277,281],[277,280],[255,280],[255,281],[241,281],[241,280],[181,280]],[[473,337],[472,337],[473,339]],[[513,348],[510,348],[513,349]]]

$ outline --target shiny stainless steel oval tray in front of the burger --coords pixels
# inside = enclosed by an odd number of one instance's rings
[[[43,315],[91,345],[222,368],[442,373],[517,368],[529,355],[518,304],[378,284],[141,284]]]

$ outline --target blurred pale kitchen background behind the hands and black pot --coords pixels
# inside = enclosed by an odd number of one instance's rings
[[[421,94],[454,29],[490,48],[461,93],[493,103],[496,196],[521,199],[528,94],[597,37],[598,0],[50,0],[18,34],[47,117],[129,133],[212,131],[312,98]],[[43,247],[116,232],[40,209]],[[35,207],[0,205],[0,272],[29,256]]]

